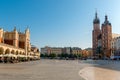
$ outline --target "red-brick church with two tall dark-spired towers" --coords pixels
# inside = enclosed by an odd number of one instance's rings
[[[95,14],[95,19],[93,20],[93,31],[92,31],[92,46],[93,46],[93,56],[97,57],[110,57],[111,55],[111,41],[112,41],[112,26],[108,21],[107,15],[105,16],[105,21],[100,29],[100,20]]]

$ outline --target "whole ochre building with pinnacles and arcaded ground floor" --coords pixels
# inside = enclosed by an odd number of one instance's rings
[[[16,27],[11,32],[0,28],[0,58],[34,58],[31,53],[33,52],[31,51],[30,31],[28,28],[24,33],[18,32]],[[33,54],[36,53],[34,52]]]

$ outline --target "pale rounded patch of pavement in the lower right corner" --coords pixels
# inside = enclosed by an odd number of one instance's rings
[[[100,67],[86,67],[79,74],[86,80],[120,80],[120,71]]]

